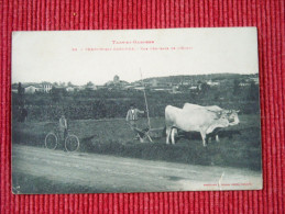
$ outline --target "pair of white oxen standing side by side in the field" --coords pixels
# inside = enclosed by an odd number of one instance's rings
[[[199,132],[202,145],[206,146],[206,136],[216,128],[228,127],[239,123],[237,111],[222,110],[217,105],[200,106],[190,103],[185,104],[184,109],[167,105],[165,108],[166,144],[175,144],[174,135],[176,128],[184,132]],[[171,136],[172,135],[172,136]]]

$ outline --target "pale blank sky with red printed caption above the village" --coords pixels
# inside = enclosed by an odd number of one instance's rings
[[[13,32],[12,82],[259,72],[255,27]]]

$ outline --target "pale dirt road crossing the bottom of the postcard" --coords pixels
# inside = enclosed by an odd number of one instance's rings
[[[12,171],[45,178],[54,185],[84,185],[100,192],[251,190],[262,187],[261,173],[250,170],[65,153],[20,145],[12,147]]]

